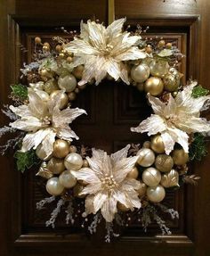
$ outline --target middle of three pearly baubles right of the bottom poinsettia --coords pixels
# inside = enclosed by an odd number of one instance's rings
[[[161,173],[158,171],[158,169],[155,169],[153,167],[149,167],[148,169],[145,169],[142,173],[142,181],[147,186],[158,186],[161,180]]]

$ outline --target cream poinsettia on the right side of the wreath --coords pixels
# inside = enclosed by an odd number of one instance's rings
[[[210,123],[200,118],[200,111],[206,109],[210,103],[210,95],[192,97],[192,90],[196,86],[197,82],[191,82],[175,98],[170,94],[168,103],[163,103],[157,97],[148,95],[154,114],[131,130],[140,133],[147,132],[149,136],[160,133],[166,154],[171,153],[175,143],[182,145],[184,151],[188,153],[188,134],[210,131]]]

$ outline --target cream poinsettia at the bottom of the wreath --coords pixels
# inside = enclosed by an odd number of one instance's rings
[[[136,190],[140,188],[140,182],[133,178],[127,178],[127,174],[133,169],[138,156],[127,157],[127,145],[124,149],[110,156],[102,151],[93,149],[93,157],[87,157],[90,168],[82,168],[72,171],[73,175],[88,183],[81,194],[87,194],[85,198],[85,213],[95,214],[101,210],[101,214],[107,222],[111,222],[117,212],[117,202],[131,209],[141,208],[141,202]]]

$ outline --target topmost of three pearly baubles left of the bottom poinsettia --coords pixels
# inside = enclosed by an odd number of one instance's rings
[[[64,160],[64,165],[66,169],[78,170],[83,166],[83,159],[78,153],[69,153]]]

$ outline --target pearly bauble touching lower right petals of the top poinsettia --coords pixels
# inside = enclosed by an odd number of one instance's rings
[[[141,63],[138,66],[133,66],[131,70],[131,77],[137,83],[142,83],[149,78],[149,66]]]

